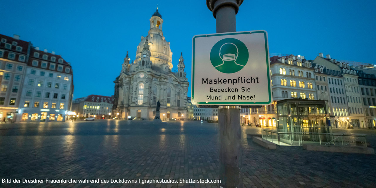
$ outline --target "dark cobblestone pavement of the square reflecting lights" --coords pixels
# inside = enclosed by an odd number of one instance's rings
[[[376,156],[267,150],[242,127],[244,187],[376,187]],[[340,130],[340,129],[337,129]],[[341,129],[368,134],[376,130]],[[218,125],[97,120],[0,124],[0,179],[218,179]],[[2,183],[0,187],[215,188],[218,183]]]

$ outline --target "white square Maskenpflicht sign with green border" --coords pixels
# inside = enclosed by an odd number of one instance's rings
[[[266,31],[196,35],[192,43],[194,105],[272,102]]]

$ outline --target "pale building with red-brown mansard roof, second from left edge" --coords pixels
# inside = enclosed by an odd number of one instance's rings
[[[73,97],[70,63],[32,47],[21,93],[17,121],[65,121]]]

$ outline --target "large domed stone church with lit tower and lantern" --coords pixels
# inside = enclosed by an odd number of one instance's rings
[[[112,115],[118,119],[152,120],[157,102],[161,120],[183,120],[187,116],[189,82],[183,54],[172,72],[170,42],[162,32],[163,19],[158,9],[150,18],[150,30],[141,36],[134,62],[128,52],[116,77]]]

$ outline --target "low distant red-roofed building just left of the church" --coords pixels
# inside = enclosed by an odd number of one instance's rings
[[[113,105],[113,96],[89,95],[74,99],[72,111],[76,112],[79,117],[93,117],[94,115],[98,118],[117,117],[117,114],[111,114]]]

